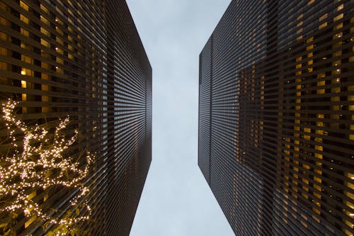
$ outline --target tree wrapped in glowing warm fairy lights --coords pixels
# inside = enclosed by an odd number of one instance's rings
[[[12,229],[8,219],[23,213],[25,218],[55,225],[56,235],[67,235],[69,227],[88,220],[91,214],[87,202],[81,199],[89,192],[84,181],[93,158],[88,152],[86,165],[81,167],[77,159],[63,154],[76,142],[78,135],[77,130],[69,138],[64,134],[69,117],[60,119],[52,133],[47,127],[26,125],[14,114],[16,105],[17,102],[11,99],[2,104],[4,125],[12,147],[11,152],[1,154],[0,159],[0,234],[1,231],[10,234]],[[76,209],[84,206],[86,214],[82,216],[76,211],[68,211],[55,217],[55,210],[43,209],[31,194],[33,191],[45,191],[50,186],[77,191],[70,204]]]

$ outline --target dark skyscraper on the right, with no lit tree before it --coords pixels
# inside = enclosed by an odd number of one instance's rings
[[[198,165],[236,235],[353,235],[353,9],[234,0],[200,53]]]

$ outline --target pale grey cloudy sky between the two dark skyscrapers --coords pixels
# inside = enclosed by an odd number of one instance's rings
[[[234,235],[198,167],[199,54],[230,0],[127,0],[152,64],[152,164],[130,236]]]

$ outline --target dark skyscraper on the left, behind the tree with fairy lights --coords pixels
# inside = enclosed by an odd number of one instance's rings
[[[0,99],[20,101],[29,124],[69,115],[68,132],[79,130],[70,154],[96,157],[92,215],[76,227],[129,235],[152,158],[152,68],[126,2],[0,0],[0,38]],[[74,194],[33,189],[30,198],[65,212]],[[42,235],[50,225],[20,215],[12,227]]]

